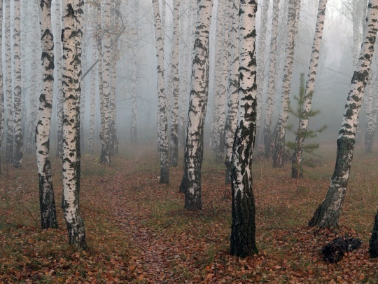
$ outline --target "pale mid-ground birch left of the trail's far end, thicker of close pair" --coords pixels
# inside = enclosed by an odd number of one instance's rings
[[[111,97],[111,3],[104,1],[101,5],[102,25],[102,120],[101,120],[101,155],[100,163],[110,165],[110,97]]]

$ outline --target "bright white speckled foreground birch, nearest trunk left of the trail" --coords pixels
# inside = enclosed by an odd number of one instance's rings
[[[62,0],[63,45],[63,202],[69,244],[76,250],[86,247],[85,228],[79,212],[80,194],[80,54],[81,6]],[[82,4],[82,2],[79,2]]]

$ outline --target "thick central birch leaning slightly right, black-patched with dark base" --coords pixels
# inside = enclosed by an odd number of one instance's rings
[[[202,208],[201,168],[204,153],[204,120],[209,91],[209,31],[212,0],[197,2],[198,20],[195,32],[194,58],[190,86],[188,127],[180,191],[185,194],[185,208]]]

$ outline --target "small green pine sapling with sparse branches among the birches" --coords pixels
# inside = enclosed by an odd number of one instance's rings
[[[300,74],[299,95],[294,96],[294,100],[297,102],[297,107],[296,107],[296,109],[293,109],[293,107],[291,107],[290,103],[288,104],[289,113],[293,114],[293,116],[295,116],[299,121],[297,130],[293,129],[293,125],[287,126],[287,129],[292,131],[295,134],[296,138],[295,138],[295,142],[287,142],[286,147],[295,151],[296,153],[299,153],[299,152],[302,153],[302,151],[305,151],[307,153],[313,154],[314,150],[318,149],[318,147],[319,147],[318,143],[301,144],[301,143],[297,143],[297,142],[298,141],[304,141],[307,138],[316,137],[317,133],[323,132],[323,130],[325,130],[325,128],[327,128],[327,126],[322,126],[321,128],[318,128],[317,130],[302,130],[302,128],[300,127],[300,121],[302,119],[305,119],[305,118],[309,119],[311,117],[314,117],[314,116],[317,116],[318,114],[320,114],[320,110],[318,110],[318,109],[310,110],[310,111],[306,111],[304,109],[304,102],[306,102],[308,97],[312,97],[312,92],[313,92],[311,90],[310,93],[306,94],[305,93],[306,92],[305,87],[306,86],[305,86],[305,82],[304,82],[304,74],[302,73],[302,74]],[[300,155],[300,156],[302,156],[302,155]],[[297,181],[300,180],[300,178],[302,177],[302,173],[303,173],[302,161],[300,161],[300,159],[298,157],[299,157],[299,155],[297,155],[296,157],[295,157],[295,155],[293,156],[293,161],[292,161],[293,166],[292,166],[292,173],[291,173],[291,177],[297,179]]]

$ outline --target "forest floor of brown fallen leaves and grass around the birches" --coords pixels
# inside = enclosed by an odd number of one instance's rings
[[[368,242],[378,208],[378,154],[356,149],[340,229],[309,228],[332,175],[334,147],[308,158],[299,184],[290,165],[273,169],[255,158],[256,239],[259,252],[229,255],[230,185],[223,165],[205,156],[203,209],[183,209],[182,167],[169,185],[159,183],[153,147],[125,150],[110,168],[94,156],[82,158],[80,215],[88,249],[74,252],[59,201],[61,163],[52,161],[59,229],[41,230],[38,174],[34,158],[0,175],[0,283],[378,283],[378,259]],[[180,161],[182,165],[182,161]],[[363,245],[337,264],[323,261],[321,248],[337,236]]]

